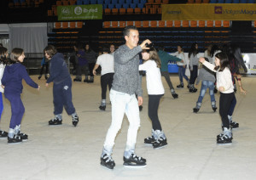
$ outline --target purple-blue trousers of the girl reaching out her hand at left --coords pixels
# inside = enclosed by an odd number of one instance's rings
[[[22,120],[22,117],[25,112],[24,105],[20,98],[20,93],[8,93],[4,92],[5,98],[7,98],[11,105],[11,120],[9,122],[9,128],[15,129],[16,126],[19,126]]]

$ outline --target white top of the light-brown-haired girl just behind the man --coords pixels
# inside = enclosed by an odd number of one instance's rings
[[[154,60],[147,60],[143,65],[139,65],[139,70],[146,70],[147,89],[149,95],[160,95],[165,93],[161,80],[160,68]]]

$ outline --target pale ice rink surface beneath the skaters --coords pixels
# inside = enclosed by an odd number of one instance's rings
[[[213,113],[208,92],[201,110],[193,113],[199,96],[188,88],[177,89],[173,99],[164,78],[166,94],[160,101],[159,117],[166,133],[168,145],[153,149],[143,139],[151,133],[148,119],[148,94],[143,77],[143,111],[137,136],[136,154],[147,159],[143,168],[123,166],[127,118],[115,141],[113,160],[116,166],[108,170],[100,165],[102,146],[111,123],[111,104],[107,96],[107,109],[100,111],[100,76],[94,83],[73,82],[73,104],[79,115],[78,127],[73,127],[72,117],[63,111],[61,126],[49,127],[53,115],[52,83],[45,87],[45,80],[32,79],[41,86],[40,91],[24,84],[22,101],[25,115],[21,131],[28,134],[28,141],[8,144],[0,139],[0,179],[4,180],[183,180],[183,179],[244,179],[256,177],[256,78],[242,78],[247,95],[236,93],[233,121],[240,127],[233,130],[233,143],[217,145],[216,136],[221,130],[218,111]],[[171,76],[173,86],[177,76]],[[185,83],[185,86],[187,84]],[[219,93],[215,95],[217,105]],[[3,115],[0,127],[8,131],[10,104],[3,96]]]

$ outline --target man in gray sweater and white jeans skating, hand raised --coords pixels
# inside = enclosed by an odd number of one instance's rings
[[[146,166],[146,160],[135,155],[137,130],[140,127],[138,106],[143,104],[143,90],[138,71],[139,53],[148,49],[147,39],[138,45],[139,32],[135,26],[124,30],[125,44],[114,53],[113,84],[109,93],[112,104],[112,123],[108,129],[101,156],[101,165],[113,169],[111,157],[114,139],[122,126],[124,114],[130,123],[124,153],[124,166]],[[137,94],[137,98],[136,98]]]

